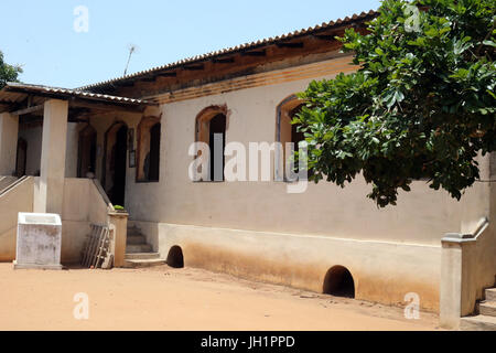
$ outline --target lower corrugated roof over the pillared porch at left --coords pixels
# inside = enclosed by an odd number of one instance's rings
[[[60,87],[48,87],[41,85],[28,85],[20,83],[8,83],[2,90],[0,90],[0,103],[19,103],[25,99],[29,94],[41,94],[41,95],[54,95],[61,96],[62,98],[66,97],[79,97],[86,98],[90,100],[98,101],[108,101],[114,104],[121,105],[152,105],[153,103],[143,100],[143,99],[134,99],[127,97],[118,97],[110,95],[96,94],[91,92],[85,92],[80,89],[68,89],[68,88],[60,88]]]

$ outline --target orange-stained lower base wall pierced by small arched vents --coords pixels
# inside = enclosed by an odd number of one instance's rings
[[[180,246],[185,266],[322,292],[327,271],[341,265],[354,278],[357,299],[401,307],[405,296],[414,292],[422,309],[439,311],[441,246],[132,224],[158,243],[162,258]]]

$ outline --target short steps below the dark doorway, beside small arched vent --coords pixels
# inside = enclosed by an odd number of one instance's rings
[[[126,246],[126,268],[142,268],[165,265],[159,253],[153,253],[152,246],[147,243],[147,237],[136,227],[128,227]]]

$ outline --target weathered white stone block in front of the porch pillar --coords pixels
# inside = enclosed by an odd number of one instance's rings
[[[62,269],[61,245],[60,215],[19,213],[14,269]]]

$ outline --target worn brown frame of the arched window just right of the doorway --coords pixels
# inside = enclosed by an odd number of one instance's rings
[[[136,151],[136,182],[137,183],[157,183],[157,180],[150,180],[144,175],[144,160],[150,152],[151,129],[162,122],[162,116],[159,117],[143,117],[138,125],[137,133],[137,151]],[[162,140],[162,132],[160,133],[160,141]],[[160,153],[159,153],[159,171],[160,171]],[[159,172],[160,174],[160,172]]]

